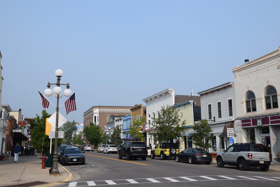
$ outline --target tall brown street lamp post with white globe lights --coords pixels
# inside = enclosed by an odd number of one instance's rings
[[[57,152],[57,140],[58,140],[58,101],[60,98],[62,98],[62,89],[60,88],[60,85],[65,85],[67,89],[63,91],[64,96],[70,97],[71,96],[71,90],[69,89],[69,83],[67,84],[61,84],[60,83],[60,77],[63,76],[63,71],[58,69],[55,71],[55,76],[57,77],[56,83],[50,83],[48,82],[47,89],[45,89],[44,93],[46,96],[51,96],[53,93],[55,94],[55,97],[57,98],[57,105],[56,105],[56,122],[55,122],[55,147],[53,151],[53,167],[51,168],[50,174],[53,176],[60,175],[58,171],[57,161],[58,161],[58,152]],[[53,90],[50,89],[50,85],[56,85]]]

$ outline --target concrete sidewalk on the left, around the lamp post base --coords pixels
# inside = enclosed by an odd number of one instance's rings
[[[28,187],[55,183],[69,178],[69,175],[71,175],[58,164],[58,171],[61,176],[50,176],[50,168],[41,169],[42,161],[40,157],[39,154],[23,155],[18,157],[18,162],[14,162],[14,157],[11,157],[10,160],[0,161],[0,186]]]

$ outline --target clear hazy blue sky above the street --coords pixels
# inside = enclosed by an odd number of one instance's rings
[[[41,114],[35,88],[55,83],[59,68],[61,82],[77,90],[77,111],[60,112],[79,123],[94,105],[134,106],[167,88],[197,95],[233,81],[231,70],[244,59],[278,49],[279,7],[255,0],[1,0],[2,104],[25,117]]]

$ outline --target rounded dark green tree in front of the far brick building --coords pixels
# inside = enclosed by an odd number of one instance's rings
[[[84,127],[84,136],[86,140],[90,142],[90,144],[96,147],[99,143],[104,141],[103,131],[101,131],[100,126],[98,126],[96,123],[90,122],[90,125]]]

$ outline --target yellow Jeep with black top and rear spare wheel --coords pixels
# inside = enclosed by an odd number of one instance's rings
[[[166,160],[168,157],[175,157],[179,153],[178,143],[158,143],[156,148],[151,152],[151,159],[160,157],[161,160]]]

